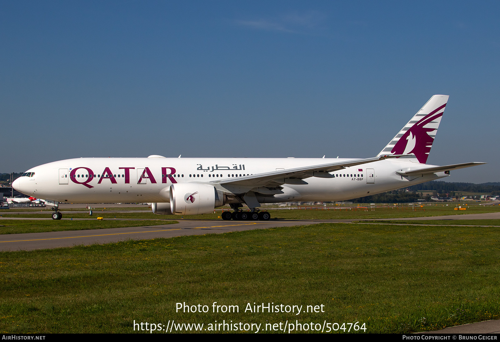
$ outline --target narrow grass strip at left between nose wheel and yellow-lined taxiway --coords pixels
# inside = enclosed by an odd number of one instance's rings
[[[84,230],[119,227],[136,227],[143,225],[159,225],[178,223],[173,220],[147,220],[147,221],[111,221],[111,220],[21,220],[4,219],[0,221],[0,234],[17,234],[27,232]]]

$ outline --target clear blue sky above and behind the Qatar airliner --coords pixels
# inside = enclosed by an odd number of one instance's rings
[[[427,163],[500,181],[500,3],[2,1],[0,172],[80,156],[369,157],[450,95]]]

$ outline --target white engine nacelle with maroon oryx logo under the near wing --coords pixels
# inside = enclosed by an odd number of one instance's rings
[[[176,183],[170,185],[170,211],[175,215],[212,212],[224,205],[222,191],[209,184]]]

